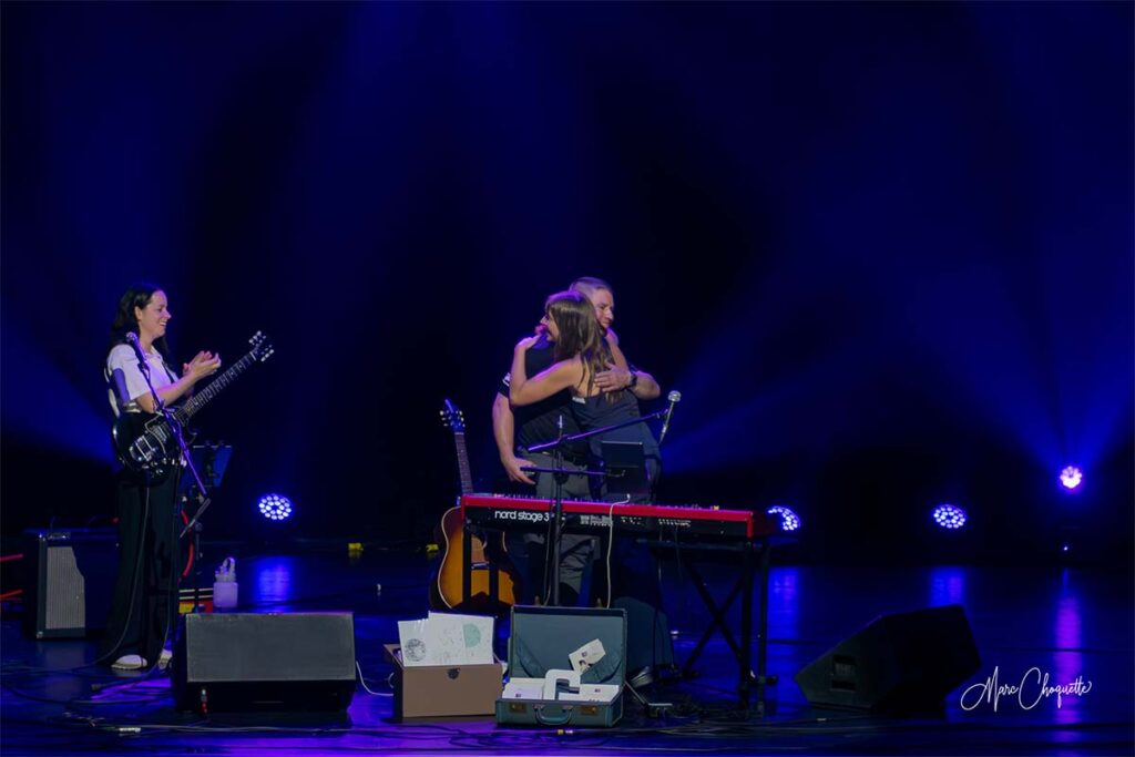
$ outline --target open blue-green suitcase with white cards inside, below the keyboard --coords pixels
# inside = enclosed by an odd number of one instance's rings
[[[508,675],[544,678],[549,670],[571,670],[568,655],[598,639],[605,655],[587,670],[585,683],[617,684],[609,703],[550,699],[497,699],[502,725],[609,727],[623,716],[627,680],[627,613],[592,607],[513,607],[508,639]]]

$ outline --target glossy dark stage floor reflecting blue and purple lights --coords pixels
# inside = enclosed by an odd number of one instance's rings
[[[95,642],[35,642],[20,634],[18,607],[5,606],[5,755],[23,754],[284,754],[413,751],[419,754],[605,754],[627,751],[797,752],[852,755],[1135,754],[1135,597],[1130,575],[1054,565],[1020,567],[775,566],[770,591],[768,689],[764,717],[739,709],[738,667],[715,636],[697,662],[697,678],[645,691],[673,703],[650,718],[628,699],[623,721],[604,731],[497,727],[488,718],[397,723],[386,684],[392,666],[382,644],[397,640],[396,621],[427,612],[426,587],[436,562],[412,552],[368,548],[237,554],[243,612],[353,611],[359,687],[345,717],[309,714],[176,713],[163,673],[116,676],[84,667]],[[212,550],[219,562],[224,556]],[[707,578],[718,594],[728,569]],[[664,566],[666,612],[679,664],[708,616],[689,582]],[[792,675],[872,619],[893,612],[961,604],[982,666],[953,691],[945,710],[917,718],[868,717],[808,706]],[[734,608],[734,615],[737,609]],[[734,617],[735,621],[735,617]],[[1079,679],[1079,693],[1019,701],[1015,695],[965,708],[962,690],[998,675],[1019,683],[1031,668],[1050,685]],[[128,681],[123,685],[107,683]],[[1086,690],[1085,690],[1086,689]],[[976,700],[976,697],[974,697]]]

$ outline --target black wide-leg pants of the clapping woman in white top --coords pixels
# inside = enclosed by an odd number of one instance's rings
[[[118,482],[118,579],[100,658],[142,655],[153,664],[177,620],[182,531],[177,472],[145,487]]]

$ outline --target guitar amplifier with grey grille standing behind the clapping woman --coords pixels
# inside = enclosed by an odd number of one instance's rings
[[[24,531],[24,633],[69,639],[104,630],[117,571],[117,529]]]

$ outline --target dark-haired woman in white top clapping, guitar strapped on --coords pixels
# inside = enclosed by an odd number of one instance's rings
[[[136,284],[119,298],[106,362],[116,415],[154,413],[154,394],[163,405],[175,403],[220,368],[219,355],[199,352],[182,367],[184,375],[178,377],[167,364],[166,327],[170,318],[169,300],[153,284]],[[133,335],[137,348],[127,335]],[[175,466],[175,472],[160,482],[125,470],[119,474],[118,579],[100,650],[100,662],[112,662],[119,670],[138,670],[169,659],[180,578],[178,470]]]

